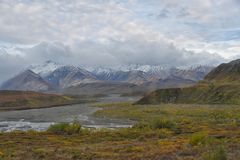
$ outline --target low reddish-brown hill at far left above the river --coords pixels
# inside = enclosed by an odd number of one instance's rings
[[[1,110],[21,110],[76,103],[66,96],[30,91],[0,91]]]

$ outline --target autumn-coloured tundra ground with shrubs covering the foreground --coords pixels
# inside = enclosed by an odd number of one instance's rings
[[[46,132],[0,134],[0,159],[240,159],[240,106],[97,105],[97,117],[136,121],[132,128],[85,129],[77,124]]]

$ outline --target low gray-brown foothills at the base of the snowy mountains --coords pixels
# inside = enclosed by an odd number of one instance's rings
[[[160,88],[188,87],[195,82],[185,79],[166,79],[155,82],[144,82],[141,84],[127,82],[93,82],[82,83],[76,86],[64,88],[64,94],[71,95],[95,95],[95,94],[123,94],[123,95],[144,95]]]

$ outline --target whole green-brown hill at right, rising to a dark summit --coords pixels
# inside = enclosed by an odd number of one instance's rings
[[[240,60],[221,64],[195,86],[160,89],[144,96],[137,103],[240,104],[239,71]]]

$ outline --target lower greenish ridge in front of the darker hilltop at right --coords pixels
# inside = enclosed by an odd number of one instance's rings
[[[215,86],[203,83],[187,88],[159,89],[137,103],[240,104],[240,85]]]

